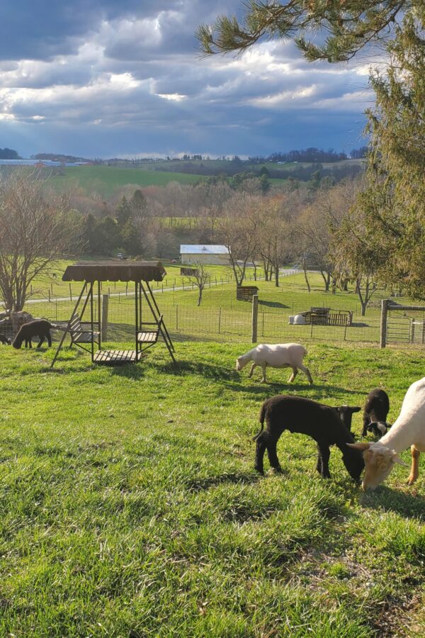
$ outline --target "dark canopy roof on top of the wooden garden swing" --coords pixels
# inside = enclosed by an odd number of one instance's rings
[[[77,262],[67,266],[62,281],[162,281],[161,262]]]

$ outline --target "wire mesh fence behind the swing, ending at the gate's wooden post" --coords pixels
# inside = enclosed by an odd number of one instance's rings
[[[189,306],[178,303],[178,296],[162,297],[156,295],[159,308],[164,315],[164,322],[171,337],[175,340],[251,340],[253,320],[252,304],[239,302],[244,309],[214,308],[208,306]],[[63,329],[72,315],[77,297],[71,299],[51,299],[51,301],[33,301],[26,306],[26,311],[35,318],[46,318]],[[257,341],[289,342],[317,340],[322,342],[379,342],[380,318],[353,318],[352,325],[292,325],[289,317],[291,308],[268,308],[259,303],[256,323]],[[100,313],[101,314],[101,313]],[[98,325],[99,308],[94,298],[94,323]],[[89,320],[89,307],[83,320]],[[142,320],[152,320],[146,305],[142,307]],[[128,342],[135,335],[135,298],[130,293],[120,296],[111,295],[108,300],[108,341]],[[10,335],[13,337],[13,335]],[[61,337],[58,330],[54,340]]]

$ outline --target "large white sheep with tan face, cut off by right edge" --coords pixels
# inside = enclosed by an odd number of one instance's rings
[[[419,454],[425,452],[425,377],[415,381],[409,387],[404,396],[399,417],[382,439],[375,443],[348,443],[348,445],[363,451],[365,460],[363,490],[373,490],[379,483],[385,481],[395,463],[406,465],[398,455],[399,452],[410,447],[412,469],[407,483],[412,485],[419,476]]]

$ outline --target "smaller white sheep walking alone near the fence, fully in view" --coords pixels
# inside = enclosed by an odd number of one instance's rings
[[[249,361],[254,362],[251,365],[248,376],[252,376],[255,366],[261,366],[263,371],[261,383],[263,384],[266,383],[267,366],[271,366],[271,368],[292,368],[293,374],[291,374],[288,383],[292,383],[300,369],[307,376],[310,384],[312,384],[313,379],[310,370],[302,363],[305,354],[307,354],[307,350],[299,343],[261,343],[236,359],[236,369],[237,371],[242,370]]]

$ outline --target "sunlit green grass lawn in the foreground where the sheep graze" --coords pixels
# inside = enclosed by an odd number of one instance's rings
[[[364,494],[337,449],[325,481],[285,432],[261,477],[251,441],[287,391],[382,386],[394,421],[422,352],[310,345],[314,386],[288,387],[234,370],[249,347],[179,343],[177,368],[162,345],[121,368],[66,349],[54,371],[52,349],[0,347],[1,636],[424,636],[424,459]]]

